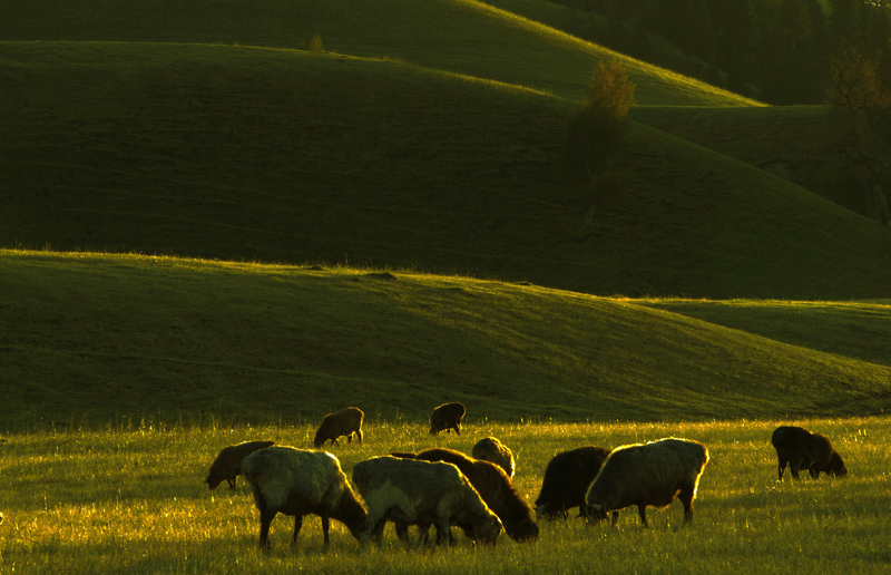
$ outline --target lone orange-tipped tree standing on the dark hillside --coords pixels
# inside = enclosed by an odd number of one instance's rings
[[[600,62],[569,118],[564,162],[569,182],[594,195],[585,218],[588,226],[598,204],[617,192],[609,164],[627,128],[634,91],[635,84],[618,60]]]

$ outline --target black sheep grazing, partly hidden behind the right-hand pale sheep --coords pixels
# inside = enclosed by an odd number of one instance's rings
[[[567,510],[578,507],[579,516],[586,516],[585,494],[608,455],[603,447],[579,447],[554,456],[545,468],[536,513],[566,519]]]

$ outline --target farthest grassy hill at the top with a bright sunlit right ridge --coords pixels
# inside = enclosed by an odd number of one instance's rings
[[[473,0],[146,0],[125,10],[114,0],[2,0],[0,8],[0,40],[298,48],[320,33],[326,50],[399,58],[570,99],[580,96],[598,60],[615,57],[629,68],[640,103],[754,104]]]

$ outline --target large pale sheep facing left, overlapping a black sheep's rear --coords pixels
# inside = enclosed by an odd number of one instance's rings
[[[646,508],[667,507],[677,497],[684,505],[684,523],[693,520],[693,499],[699,476],[708,462],[708,449],[686,439],[660,439],[613,450],[586,496],[588,517],[603,520],[613,511],[636,505],[647,527]]]

